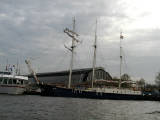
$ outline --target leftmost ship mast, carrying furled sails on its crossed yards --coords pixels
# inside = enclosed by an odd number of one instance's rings
[[[72,80],[72,68],[73,68],[73,54],[74,54],[74,48],[75,46],[75,42],[79,42],[75,37],[78,36],[77,33],[75,33],[75,18],[73,18],[73,30],[69,30],[68,28],[66,28],[64,30],[64,33],[66,33],[69,37],[72,38],[72,46],[71,48],[66,47],[68,50],[71,51],[72,55],[71,55],[71,62],[70,62],[70,72],[69,72],[69,80],[68,80],[68,88],[71,88],[71,80]]]

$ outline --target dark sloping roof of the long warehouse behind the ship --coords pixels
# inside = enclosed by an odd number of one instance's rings
[[[93,68],[82,68],[82,69],[74,69],[72,70],[72,74],[82,74],[82,73],[88,73],[91,72]],[[103,67],[96,67],[95,70],[104,70]],[[58,72],[45,72],[45,73],[37,73],[38,77],[45,77],[45,76],[63,76],[63,75],[68,75],[69,70],[66,71],[58,71]],[[109,73],[108,73],[109,74]],[[31,77],[31,75],[29,75]]]

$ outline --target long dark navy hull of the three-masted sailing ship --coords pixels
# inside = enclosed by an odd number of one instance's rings
[[[159,96],[81,91],[77,89],[68,89],[68,88],[60,88],[53,86],[41,87],[41,95],[53,96],[53,97],[74,97],[74,98],[90,98],[90,99],[160,101]]]

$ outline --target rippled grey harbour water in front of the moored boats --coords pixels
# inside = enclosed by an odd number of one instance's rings
[[[0,120],[159,120],[160,102],[0,95]]]

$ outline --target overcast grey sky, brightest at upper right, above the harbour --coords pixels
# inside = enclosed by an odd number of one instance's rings
[[[97,66],[119,76],[119,34],[123,32],[123,73],[152,83],[160,72],[159,0],[0,0],[0,69],[32,58],[37,72],[69,69],[72,29],[80,35],[74,68],[92,67],[98,20]]]

